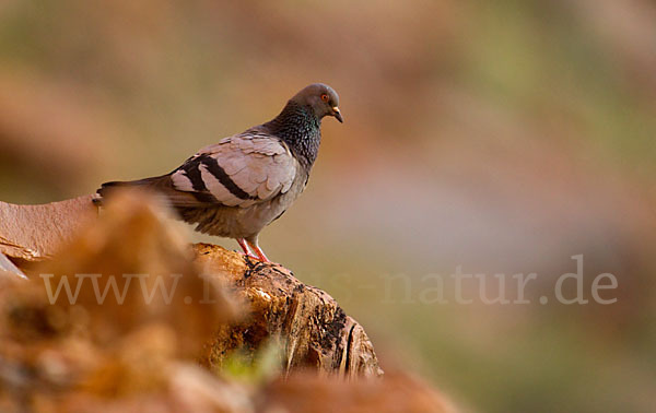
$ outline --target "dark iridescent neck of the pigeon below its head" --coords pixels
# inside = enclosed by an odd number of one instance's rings
[[[290,146],[304,166],[312,167],[319,152],[321,119],[309,106],[290,101],[280,115],[265,126]]]

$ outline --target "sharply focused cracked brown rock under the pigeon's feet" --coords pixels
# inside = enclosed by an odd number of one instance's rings
[[[255,352],[267,339],[282,341],[285,371],[311,367],[339,377],[378,377],[373,345],[362,326],[347,316],[337,302],[298,281],[276,263],[263,263],[197,244],[197,261],[206,271],[223,274],[230,286],[250,307],[246,319],[222,327],[209,346],[203,363],[220,367],[231,351]]]

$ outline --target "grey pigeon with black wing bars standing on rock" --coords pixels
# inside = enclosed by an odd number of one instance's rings
[[[102,205],[119,187],[153,190],[196,231],[234,238],[246,256],[270,262],[258,235],[307,186],[326,116],[343,122],[339,96],[326,84],[311,84],[272,120],[201,149],[166,175],[103,184],[94,202]]]

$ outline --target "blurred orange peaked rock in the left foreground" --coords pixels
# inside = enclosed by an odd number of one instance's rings
[[[219,409],[178,381],[184,371],[200,393],[225,391],[197,357],[236,304],[151,197],[118,196],[26,272],[0,285],[0,411],[248,411]]]

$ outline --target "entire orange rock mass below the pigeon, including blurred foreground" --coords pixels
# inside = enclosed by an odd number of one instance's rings
[[[27,281],[0,278],[2,412],[450,411],[408,375],[382,377],[328,294],[190,246],[153,197],[117,196],[58,249]]]

